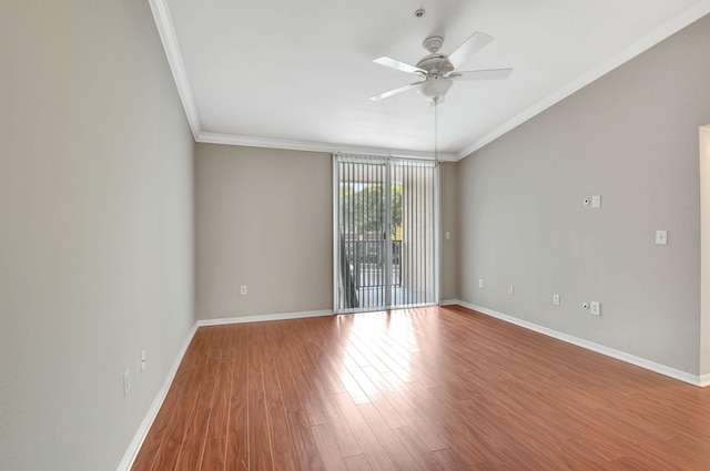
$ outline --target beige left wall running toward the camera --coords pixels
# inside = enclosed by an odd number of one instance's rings
[[[145,1],[2,1],[0,63],[0,469],[114,470],[194,324],[192,136]]]

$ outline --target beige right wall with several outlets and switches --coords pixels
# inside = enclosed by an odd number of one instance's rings
[[[707,44],[710,17],[458,163],[460,299],[710,372],[699,366]],[[592,195],[600,209],[581,204]],[[601,317],[580,307],[591,300]]]

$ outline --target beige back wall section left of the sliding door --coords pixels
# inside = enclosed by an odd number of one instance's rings
[[[329,154],[196,145],[200,319],[333,309],[332,181]]]

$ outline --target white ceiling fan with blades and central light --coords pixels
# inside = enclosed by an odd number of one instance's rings
[[[419,92],[419,94],[422,94],[426,100],[433,103],[440,103],[444,95],[446,95],[446,92],[448,92],[448,89],[454,84],[454,81],[507,79],[508,75],[510,75],[510,72],[513,72],[513,69],[471,71],[456,70],[490,41],[493,41],[493,37],[477,31],[456,48],[454,52],[445,55],[438,52],[439,49],[442,49],[442,44],[444,44],[444,38],[433,35],[425,39],[422,43],[424,50],[428,52],[428,55],[424,57],[416,65],[410,65],[388,57],[375,59],[373,62],[377,64],[400,70],[403,72],[414,73],[422,80],[371,96],[371,100],[384,100],[416,88],[417,92]]]

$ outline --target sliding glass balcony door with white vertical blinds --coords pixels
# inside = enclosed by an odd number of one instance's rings
[[[334,155],[335,310],[438,301],[432,161]]]

